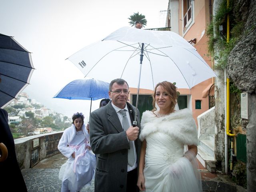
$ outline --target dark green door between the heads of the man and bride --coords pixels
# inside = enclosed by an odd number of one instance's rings
[[[132,95],[132,105],[136,106],[137,95]],[[140,118],[142,113],[146,110],[152,110],[153,98],[151,95],[139,95],[138,110],[140,111]]]

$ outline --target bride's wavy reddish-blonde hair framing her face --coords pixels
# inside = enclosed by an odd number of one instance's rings
[[[173,112],[174,110],[174,107],[176,105],[176,100],[178,98],[178,95],[177,95],[177,87],[168,82],[168,81],[163,81],[163,82],[160,82],[158,84],[156,84],[155,88],[154,88],[154,93],[153,93],[153,109],[152,109],[152,112],[156,111],[156,88],[158,86],[162,86],[162,89],[164,89],[166,91],[166,93],[169,95],[169,97],[171,98],[171,105],[170,105],[170,112]]]

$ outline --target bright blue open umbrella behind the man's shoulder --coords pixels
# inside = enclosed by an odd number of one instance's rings
[[[93,78],[77,79],[64,86],[53,98],[92,100],[108,98],[109,83]]]

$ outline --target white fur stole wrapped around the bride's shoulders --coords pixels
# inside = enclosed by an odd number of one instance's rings
[[[185,145],[198,145],[196,123],[187,108],[164,117],[156,117],[148,110],[143,112],[140,140],[143,141],[147,135],[157,131],[169,134]]]

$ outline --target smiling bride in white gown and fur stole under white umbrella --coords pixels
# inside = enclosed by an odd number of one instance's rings
[[[158,83],[153,110],[142,114],[137,182],[141,191],[202,192],[196,124],[190,110],[176,110],[176,89],[170,82]]]

